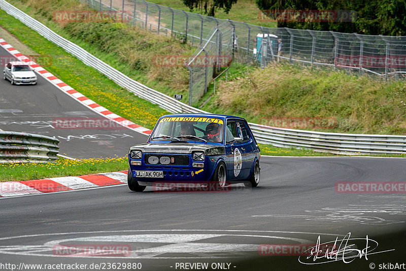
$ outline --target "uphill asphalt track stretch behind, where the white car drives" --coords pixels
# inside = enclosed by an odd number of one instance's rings
[[[8,55],[0,47],[0,55]],[[130,146],[144,143],[147,137],[119,124],[105,128],[65,129],[63,121],[107,120],[66,95],[38,76],[37,85],[14,85],[0,80],[0,129],[56,137],[59,153],[72,158],[125,156]],[[137,113],[140,114],[140,113]],[[76,122],[77,123],[77,122]],[[94,126],[93,126],[94,127]]]

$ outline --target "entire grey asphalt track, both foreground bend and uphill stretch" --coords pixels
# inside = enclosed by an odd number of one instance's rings
[[[74,158],[123,156],[129,146],[146,141],[129,129],[53,127],[55,118],[99,115],[41,77],[37,86],[2,80],[0,117],[3,130],[57,137],[60,153]],[[380,264],[405,262],[405,193],[338,193],[335,185],[404,182],[404,168],[405,160],[397,158],[263,156],[261,182],[253,189],[136,193],[118,185],[1,198],[0,269],[384,269]],[[320,244],[344,239],[340,249],[353,249],[354,258],[263,250],[272,244],[314,246],[319,236]],[[62,251],[62,245],[110,249],[81,254]],[[126,253],[114,253],[118,247]]]

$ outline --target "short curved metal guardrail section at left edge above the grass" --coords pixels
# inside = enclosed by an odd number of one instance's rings
[[[56,160],[58,143],[40,134],[0,131],[0,163]]]

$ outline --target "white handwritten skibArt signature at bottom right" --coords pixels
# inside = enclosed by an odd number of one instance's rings
[[[354,241],[365,242],[365,247],[358,249],[355,244],[351,244]],[[306,251],[306,255],[299,256],[299,262],[303,264],[321,264],[333,261],[343,261],[344,263],[350,263],[356,258],[368,260],[368,255],[393,251],[376,251],[378,248],[378,242],[366,238],[351,238],[351,232],[347,233],[343,239],[335,238],[335,241],[326,243],[320,243],[320,235],[317,238],[316,246]]]

